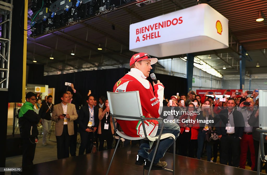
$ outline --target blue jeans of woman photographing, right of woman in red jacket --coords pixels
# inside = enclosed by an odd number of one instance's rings
[[[203,151],[206,133],[207,133],[207,131],[198,131],[198,153],[197,153],[198,159],[201,159],[201,157],[202,157],[202,151]],[[206,142],[207,161],[209,161],[209,162],[211,160],[211,146],[212,146],[212,144]]]

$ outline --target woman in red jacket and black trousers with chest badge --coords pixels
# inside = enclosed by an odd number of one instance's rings
[[[194,114],[193,114],[194,112]],[[188,114],[190,113],[190,114]],[[181,155],[195,158],[197,153],[197,139],[199,126],[196,121],[197,111],[194,104],[188,104],[186,114],[180,118],[180,140],[183,144]],[[194,122],[195,121],[195,122]]]

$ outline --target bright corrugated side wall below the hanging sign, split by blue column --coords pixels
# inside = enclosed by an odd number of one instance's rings
[[[158,63],[165,68],[156,65],[154,69],[154,73],[160,73],[165,75],[172,75],[186,78],[186,61],[180,58],[173,59],[163,59],[159,60]],[[192,90],[195,91],[197,89],[221,89],[221,81],[222,79],[216,76],[213,76],[207,72],[194,67],[193,69],[193,78],[195,79],[195,83],[192,84]]]

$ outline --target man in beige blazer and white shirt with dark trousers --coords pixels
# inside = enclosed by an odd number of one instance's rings
[[[69,94],[63,93],[62,102],[54,105],[51,120],[56,122],[57,158],[69,157],[69,141],[74,134],[73,120],[78,118],[74,104],[69,103]]]

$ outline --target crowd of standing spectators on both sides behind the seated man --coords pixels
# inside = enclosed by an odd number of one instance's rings
[[[62,102],[56,105],[52,104],[53,97],[51,95],[46,96],[42,102],[40,94],[26,95],[28,107],[40,110],[38,116],[34,115],[34,120],[28,121],[27,126],[23,125],[29,119],[29,115],[33,114],[26,110],[19,114],[21,134],[25,145],[31,146],[30,148],[33,149],[34,146],[31,144],[38,139],[38,134],[29,136],[29,134],[25,134],[25,130],[29,129],[30,125],[36,124],[41,118],[44,128],[43,146],[47,145],[46,137],[52,121],[55,122],[58,159],[69,157],[69,154],[76,156],[77,132],[80,133],[81,138],[79,155],[84,152],[91,153],[94,151],[94,147],[99,151],[104,150],[105,141],[106,149],[112,149],[114,128],[107,98],[104,96],[97,98],[91,94],[91,91],[88,92],[87,97],[83,97],[73,84],[70,87],[69,91],[62,94]],[[167,120],[180,120],[176,154],[198,159],[203,159],[203,155],[206,154],[207,159],[205,158],[205,160],[217,162],[219,153],[221,164],[245,168],[246,161],[248,161],[251,169],[257,170],[259,133],[255,129],[258,127],[259,115],[258,90],[254,90],[252,94],[245,91],[237,95],[234,92],[230,97],[225,96],[226,92],[221,99],[216,98],[214,92],[206,92],[201,97],[196,92],[190,91],[186,95],[173,95],[170,99],[163,100],[163,105],[168,107],[168,110],[198,111],[194,115],[183,113],[178,116],[168,115],[166,117]],[[83,98],[86,98],[86,103],[83,103]],[[186,122],[190,119],[213,120],[214,122]],[[209,131],[216,133],[218,139],[210,141]],[[267,145],[265,146],[267,147]],[[172,150],[170,148],[170,152]],[[24,153],[29,154],[27,149]],[[23,156],[26,155],[23,154]],[[33,157],[34,154],[31,153],[31,161],[23,159],[23,166],[32,164]]]

